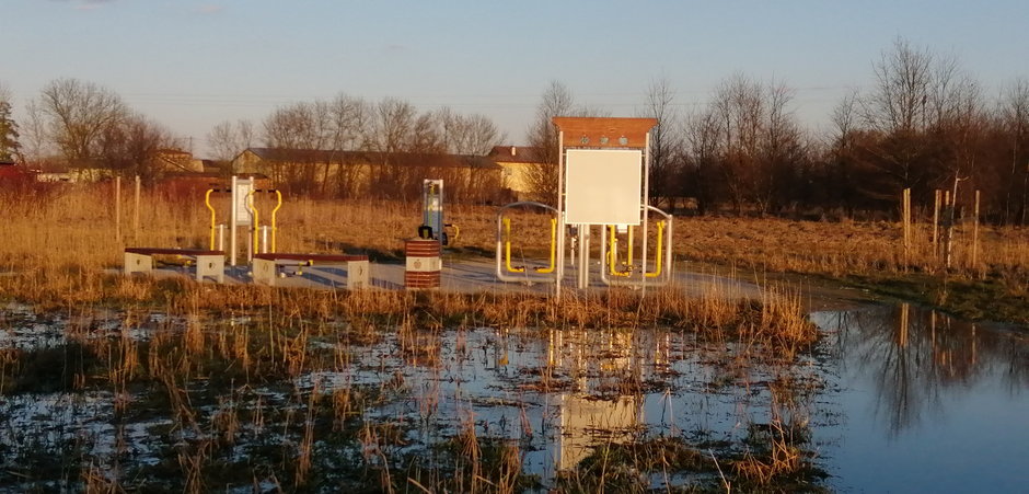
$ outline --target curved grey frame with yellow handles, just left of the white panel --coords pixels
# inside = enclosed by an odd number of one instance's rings
[[[511,241],[513,239],[511,234],[511,218],[505,214],[513,208],[536,208],[553,214],[553,217],[550,218],[550,231],[547,233],[544,233],[543,231],[536,231],[534,233],[539,237],[542,237],[543,234],[548,234],[550,237],[547,249],[550,252],[550,262],[545,266],[540,265],[529,269],[524,265],[511,265]],[[557,282],[558,216],[559,214],[557,209],[542,203],[521,202],[511,203],[500,207],[500,209],[497,211],[497,279],[500,279],[501,282],[518,282],[528,284]],[[522,257],[520,261],[525,263],[527,260]]]

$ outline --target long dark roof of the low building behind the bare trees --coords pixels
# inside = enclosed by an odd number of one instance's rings
[[[429,152],[340,151],[332,149],[247,148],[267,161],[288,163],[384,163],[401,166],[499,169],[486,157]],[[244,151],[244,152],[246,152]]]

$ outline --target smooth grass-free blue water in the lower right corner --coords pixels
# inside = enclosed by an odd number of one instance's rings
[[[938,318],[934,346],[925,314],[912,309],[902,349],[897,309],[863,312],[812,315],[830,331],[831,351],[839,356],[828,364],[830,374],[839,372],[833,379],[839,390],[828,399],[844,415],[842,426],[816,430],[828,441],[823,455],[835,476],[832,484],[864,492],[1025,492],[1026,340]],[[863,354],[876,348],[881,357],[882,342],[893,342],[890,349],[902,356],[888,361]],[[924,351],[912,349],[918,346]]]

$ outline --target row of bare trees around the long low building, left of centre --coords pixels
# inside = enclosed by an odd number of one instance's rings
[[[411,156],[426,157],[421,160],[426,165],[415,168],[431,169],[428,163],[438,160],[429,157],[481,157],[504,140],[496,125],[483,115],[462,115],[449,108],[419,112],[413,104],[393,97],[368,102],[346,94],[278,107],[265,117],[261,127],[263,147],[338,151],[297,153],[313,161],[280,163],[271,170],[273,180],[282,188],[325,197],[347,197],[355,191],[361,191],[362,196],[371,193],[407,196],[409,191],[420,189],[424,174],[409,170]],[[221,123],[208,136],[216,158],[227,163],[257,139],[254,126],[247,122]],[[354,151],[360,152],[362,160],[374,161],[363,163],[372,164],[368,181],[375,184],[373,191],[354,186],[360,180],[354,176],[359,168],[339,165]],[[458,185],[456,181],[452,184]]]

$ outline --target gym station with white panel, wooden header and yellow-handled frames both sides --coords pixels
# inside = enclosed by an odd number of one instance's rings
[[[601,279],[608,285],[646,288],[667,284],[672,276],[672,217],[648,206],[650,129],[655,118],[554,117],[558,145],[557,207],[539,203],[555,214],[552,226],[551,265],[535,269],[547,276],[529,276],[528,269],[511,265],[511,222],[505,211],[527,205],[514,203],[497,216],[497,277],[504,282],[554,282],[559,297],[565,277],[565,253],[576,264],[576,287],[590,286],[590,240],[600,227]],[[657,249],[651,251],[650,214],[657,222]],[[635,228],[640,235],[639,259]],[[560,234],[558,234],[560,232]],[[618,232],[626,235],[626,254],[618,262]],[[566,249],[566,235],[571,235]]]

